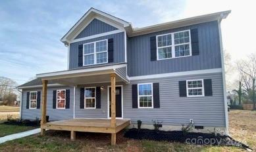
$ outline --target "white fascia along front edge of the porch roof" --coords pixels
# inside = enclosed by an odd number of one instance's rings
[[[49,72],[49,73],[43,73],[43,74],[36,74],[37,78],[42,78],[42,80],[51,80],[56,79],[53,77],[59,76],[63,78],[68,78],[70,75],[72,77],[86,75],[86,72],[95,72],[94,74],[105,74],[105,72],[115,72],[116,68],[122,68],[125,67],[126,64],[114,64],[109,66],[100,66],[100,67],[92,67],[92,68],[81,68],[81,69],[75,69],[75,70],[64,70],[64,71],[58,71],[58,72]],[[93,74],[90,74],[93,75]],[[48,79],[47,79],[48,78]]]

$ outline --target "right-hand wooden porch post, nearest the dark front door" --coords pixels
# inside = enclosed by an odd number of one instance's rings
[[[111,128],[116,127],[116,74],[111,74]],[[116,144],[116,134],[111,134],[111,145]]]

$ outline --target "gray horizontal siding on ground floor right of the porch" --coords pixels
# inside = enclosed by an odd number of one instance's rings
[[[212,79],[213,96],[180,97],[179,81]],[[132,84],[159,83],[159,109],[132,109]],[[124,118],[136,124],[153,124],[152,120],[163,121],[163,125],[181,126],[192,118],[196,126],[225,126],[222,74],[197,74],[155,78],[151,80],[132,80],[124,86]]]

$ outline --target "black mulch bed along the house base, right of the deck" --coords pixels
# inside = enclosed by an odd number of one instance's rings
[[[148,139],[155,141],[176,141],[181,143],[192,143],[197,145],[226,145],[226,146],[236,146],[249,148],[247,145],[240,143],[230,136],[220,135],[220,134],[205,134],[196,132],[182,131],[161,131],[161,130],[148,130],[133,128],[127,130],[124,134],[126,138],[132,139]]]

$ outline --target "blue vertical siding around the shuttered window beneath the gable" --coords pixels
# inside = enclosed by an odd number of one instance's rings
[[[113,63],[124,63],[125,62],[125,51],[124,51],[124,32],[120,32],[118,34],[111,34],[108,36],[102,36],[99,38],[88,39],[85,41],[78,41],[70,44],[70,54],[69,54],[69,69],[78,68],[78,45],[84,43],[90,43],[93,41],[99,41],[103,39],[113,38],[114,41],[114,62]],[[106,63],[113,64],[113,63]],[[99,64],[96,64],[99,65]],[[103,64],[100,64],[103,65]],[[93,67],[92,66],[84,66],[84,67]]]

